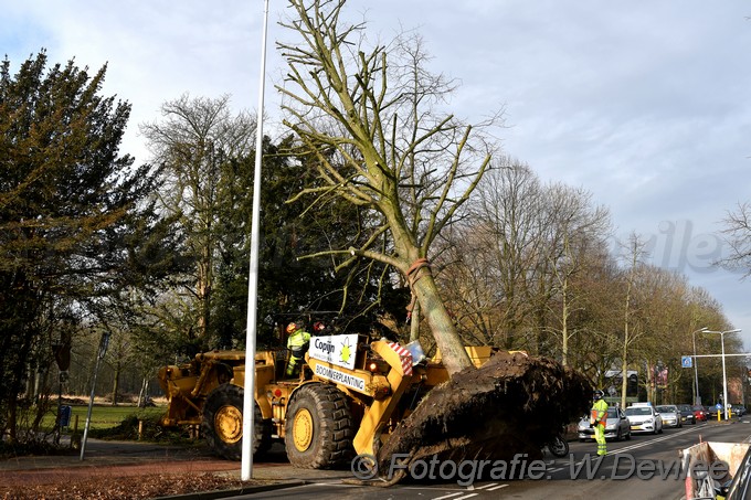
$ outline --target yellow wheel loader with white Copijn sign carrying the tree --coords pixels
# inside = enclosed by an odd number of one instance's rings
[[[494,348],[467,351],[479,366]],[[359,334],[313,337],[294,379],[285,375],[288,359],[286,350],[255,355],[252,450],[283,442],[290,464],[300,468],[376,455],[425,393],[448,380],[440,359],[425,359],[417,343],[402,347]],[[162,425],[200,427],[218,455],[240,459],[244,351],[198,354],[188,364],[162,368],[159,381],[169,400]]]

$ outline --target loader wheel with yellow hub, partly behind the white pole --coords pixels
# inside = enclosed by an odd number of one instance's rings
[[[242,458],[243,397],[243,387],[222,384],[209,393],[203,404],[203,436],[214,453],[228,460]],[[260,455],[271,447],[271,423],[263,419],[258,403],[254,402],[254,407],[251,450]]]

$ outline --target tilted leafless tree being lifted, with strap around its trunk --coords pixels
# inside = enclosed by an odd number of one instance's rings
[[[431,270],[436,236],[488,168],[494,146],[478,126],[440,113],[454,89],[427,72],[419,36],[366,49],[363,24],[345,25],[345,0],[290,0],[283,23],[298,40],[277,46],[288,63],[285,125],[317,160],[325,184],[304,190],[311,205],[340,196],[372,213],[367,242],[331,251],[348,265],[371,258],[398,269],[412,288],[449,373],[470,365]]]

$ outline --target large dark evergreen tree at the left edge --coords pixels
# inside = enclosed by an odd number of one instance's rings
[[[149,166],[118,148],[130,105],[99,95],[94,74],[46,66],[44,51],[11,74],[0,66],[0,406],[11,439],[30,366],[96,321],[169,258],[148,195]],[[168,234],[163,231],[162,234]],[[169,237],[168,237],[169,240]]]

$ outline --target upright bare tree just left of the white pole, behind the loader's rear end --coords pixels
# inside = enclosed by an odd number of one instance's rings
[[[225,170],[230,159],[248,155],[255,124],[245,113],[231,115],[226,95],[215,99],[183,95],[165,103],[161,114],[161,121],[142,124],[140,130],[156,161],[165,166],[161,205],[179,219],[188,254],[195,262],[192,284],[174,296],[184,300],[182,317],[189,319],[183,328],[188,337],[205,340],[222,243],[219,220],[223,198],[235,182]]]

